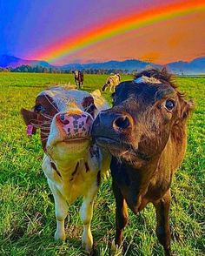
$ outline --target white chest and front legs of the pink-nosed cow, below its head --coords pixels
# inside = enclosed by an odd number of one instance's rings
[[[99,175],[106,172],[108,166],[101,165],[103,160],[102,152],[99,158],[91,158],[88,152],[87,158],[72,161],[64,168],[57,168],[61,177],[50,165],[50,158],[45,154],[43,158],[43,172],[45,173],[50,189],[54,195],[56,205],[56,233],[55,239],[65,239],[64,219],[68,214],[68,204],[73,203],[78,197],[83,196],[83,205],[80,215],[83,222],[83,246],[87,251],[91,251],[93,239],[90,231],[90,221],[92,219],[93,201],[99,188]],[[85,161],[89,165],[89,172],[85,167]],[[77,163],[77,171],[73,176]],[[104,170],[103,170],[104,169]]]

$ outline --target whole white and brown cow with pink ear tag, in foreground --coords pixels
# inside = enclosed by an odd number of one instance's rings
[[[92,252],[90,222],[93,202],[102,174],[109,170],[109,156],[92,142],[90,128],[99,111],[109,107],[100,91],[42,91],[32,111],[22,109],[28,135],[40,129],[43,145],[43,172],[55,199],[55,239],[65,239],[64,219],[68,204],[83,196],[83,248]]]

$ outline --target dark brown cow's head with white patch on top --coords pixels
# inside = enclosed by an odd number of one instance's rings
[[[192,108],[162,69],[142,71],[116,87],[113,107],[102,111],[92,127],[98,145],[127,161],[159,155],[175,125],[183,125]]]

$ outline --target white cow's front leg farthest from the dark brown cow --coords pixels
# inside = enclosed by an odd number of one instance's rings
[[[64,229],[64,220],[68,214],[68,204],[63,198],[63,195],[56,189],[55,185],[49,182],[50,189],[53,193],[55,200],[55,212],[56,212],[56,240],[65,240],[65,229]]]

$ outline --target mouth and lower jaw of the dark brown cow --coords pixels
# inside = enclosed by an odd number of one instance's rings
[[[108,137],[96,137],[96,144],[102,148],[108,150],[113,156],[120,158],[133,158],[142,159],[144,161],[149,160],[149,156],[143,152],[140,152],[138,149],[135,149],[132,145],[119,141],[113,138]]]

